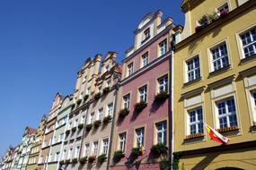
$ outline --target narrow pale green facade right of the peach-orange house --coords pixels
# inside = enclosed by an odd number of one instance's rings
[[[63,149],[66,126],[68,123],[68,115],[71,112],[73,96],[66,96],[64,98],[61,107],[57,111],[57,122],[53,134],[53,140],[49,150],[49,156],[51,159],[48,161],[47,169],[57,170],[59,167],[59,160],[61,157],[61,150]]]

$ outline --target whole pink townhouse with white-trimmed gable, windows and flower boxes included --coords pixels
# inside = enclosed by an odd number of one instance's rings
[[[119,87],[110,169],[159,169],[168,159],[169,92],[172,75],[172,18],[148,13],[139,23],[135,44],[126,51]],[[163,152],[155,153],[162,147]],[[151,151],[154,148],[154,151]]]

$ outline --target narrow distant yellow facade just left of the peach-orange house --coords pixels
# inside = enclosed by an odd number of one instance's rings
[[[27,165],[27,170],[35,170],[37,168],[39,157],[40,157],[40,149],[42,145],[42,140],[46,128],[47,117],[43,115],[39,128],[35,135],[35,142],[31,146],[31,153],[29,155],[29,161]]]

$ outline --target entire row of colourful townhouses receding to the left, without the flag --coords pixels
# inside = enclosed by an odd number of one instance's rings
[[[255,6],[184,0],[184,28],[147,13],[122,65],[112,51],[88,58],[74,93],[57,93],[33,140],[8,149],[1,168],[255,169]]]

